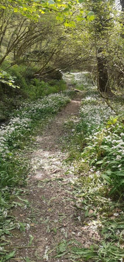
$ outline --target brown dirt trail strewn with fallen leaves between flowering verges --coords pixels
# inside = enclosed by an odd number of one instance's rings
[[[30,158],[32,168],[26,188],[29,194],[25,197],[31,202],[31,208],[14,210],[17,220],[28,224],[25,233],[14,231],[16,237],[12,237],[11,248],[23,247],[15,249],[15,258],[19,258],[15,261],[21,261],[24,257],[31,261],[68,261],[61,257],[47,257],[46,253],[54,249],[63,238],[68,240],[73,235],[82,244],[85,242],[82,225],[80,221],[75,220],[77,209],[74,202],[70,201],[72,188],[69,181],[74,179],[74,176],[64,174],[68,169],[73,169],[73,165],[68,167],[62,162],[68,155],[62,153],[62,139],[60,140],[66,136],[64,123],[69,119],[78,121],[80,101],[81,96],[78,93],[48,124],[43,134],[37,136],[38,148]],[[31,247],[27,247],[30,235],[34,239]],[[55,254],[56,250],[49,253],[49,256]]]

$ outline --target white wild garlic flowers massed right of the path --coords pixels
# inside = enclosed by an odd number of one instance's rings
[[[86,82],[86,73],[76,73],[73,75],[75,80],[83,83]],[[101,98],[95,90],[91,89],[86,92],[85,98],[82,99],[80,115],[83,123],[87,126],[87,130],[91,133],[88,138],[88,140],[91,141],[91,147],[95,148],[104,142],[111,146],[113,155],[115,155],[115,160],[120,161],[124,156],[124,133],[120,132],[120,135],[117,134],[117,129],[123,129],[117,120],[115,121],[116,128],[115,124],[111,124],[110,128],[105,128],[109,117],[115,117],[115,114],[116,113],[111,108],[107,107],[103,98]],[[97,161],[97,159],[95,160]],[[107,164],[109,164],[109,162],[108,159]],[[118,168],[121,170],[122,167],[118,166]],[[92,177],[92,174],[90,174],[90,177]]]

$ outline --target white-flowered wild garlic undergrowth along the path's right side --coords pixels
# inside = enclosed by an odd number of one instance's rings
[[[87,81],[85,73],[82,78],[83,82]],[[123,108],[116,116],[97,90],[88,87],[83,84],[79,122],[72,119],[65,123],[69,136],[64,138],[63,150],[69,151],[65,161],[72,162],[74,174],[78,175],[71,184],[73,201],[77,212],[82,211],[80,223],[91,246],[82,247],[76,238],[70,242],[63,240],[60,244],[65,247],[63,256],[71,261],[123,261]],[[117,102],[115,105],[119,109]],[[58,246],[56,257],[59,256],[62,252]]]

